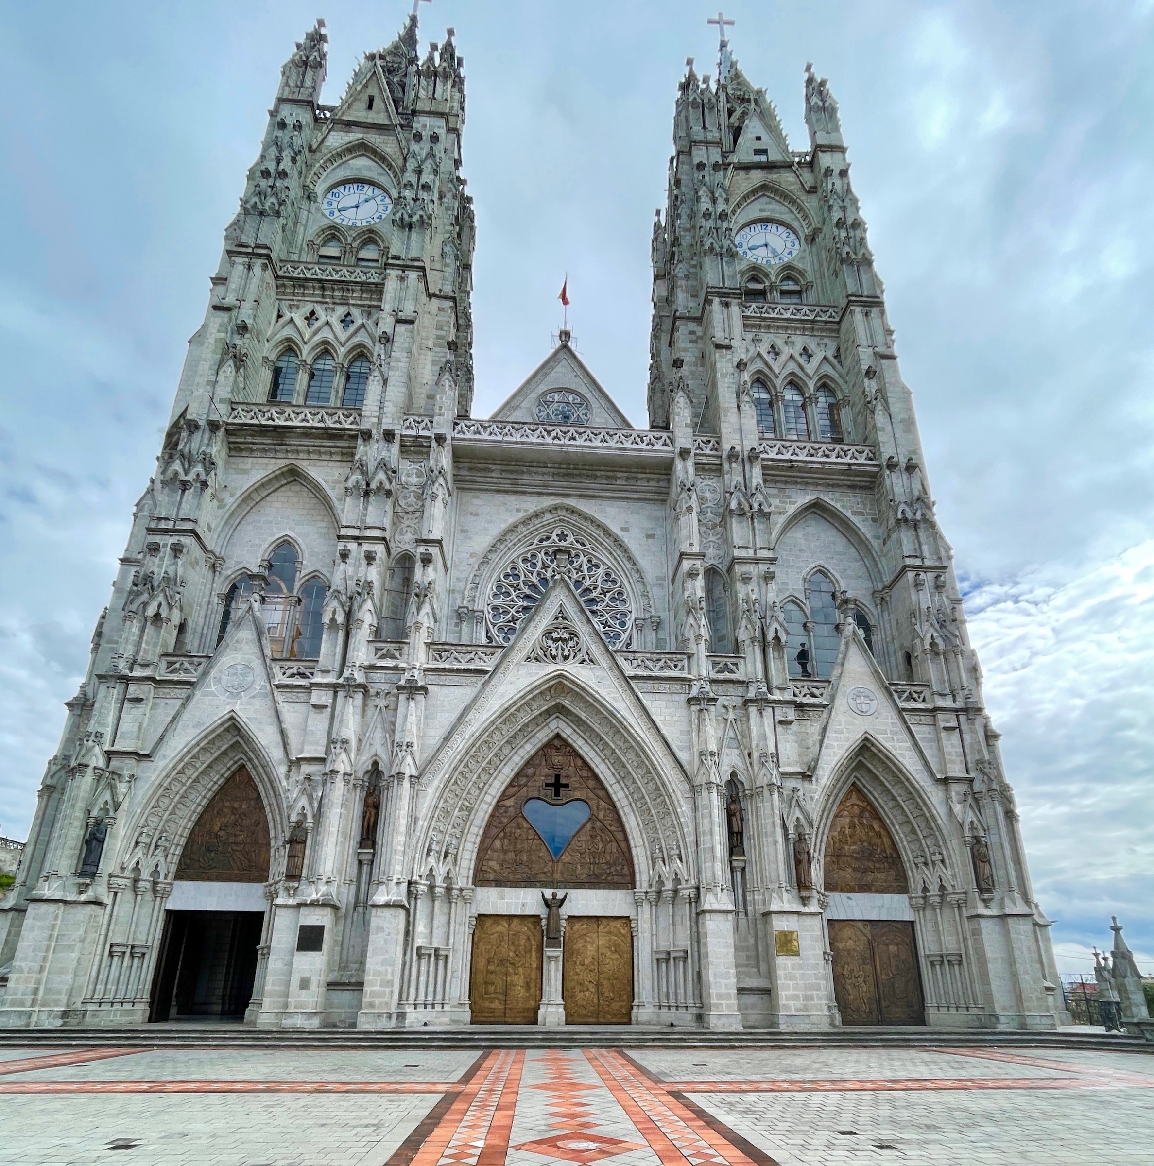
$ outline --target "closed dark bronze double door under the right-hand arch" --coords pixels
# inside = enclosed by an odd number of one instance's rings
[[[924,1024],[914,925],[831,919],[833,995],[842,1024]]]

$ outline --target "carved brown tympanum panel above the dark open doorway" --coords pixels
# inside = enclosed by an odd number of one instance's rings
[[[202,810],[184,843],[176,877],[202,883],[267,881],[268,816],[256,782],[244,766]]]

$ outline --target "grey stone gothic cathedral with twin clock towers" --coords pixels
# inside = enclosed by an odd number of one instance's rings
[[[452,31],[281,73],[0,909],[0,1024],[1053,1027],[837,104],[723,47],[649,428],[472,416]],[[554,895],[556,894],[556,899]]]

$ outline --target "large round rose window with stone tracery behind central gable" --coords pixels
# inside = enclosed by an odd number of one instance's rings
[[[629,646],[633,605],[620,576],[582,535],[568,527],[544,531],[497,576],[486,613],[494,644],[508,644],[525,617],[563,575],[611,648]]]

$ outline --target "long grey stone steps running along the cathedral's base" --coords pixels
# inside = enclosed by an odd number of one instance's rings
[[[535,1025],[467,1028],[253,1028],[240,1024],[155,1024],[133,1028],[5,1028],[2,1046],[87,1045],[167,1048],[212,1045],[228,1048],[931,1048],[944,1046],[1083,1048],[1154,1053],[1154,1044],[1103,1032],[991,1032],[964,1028],[839,1028],[828,1032]]]

